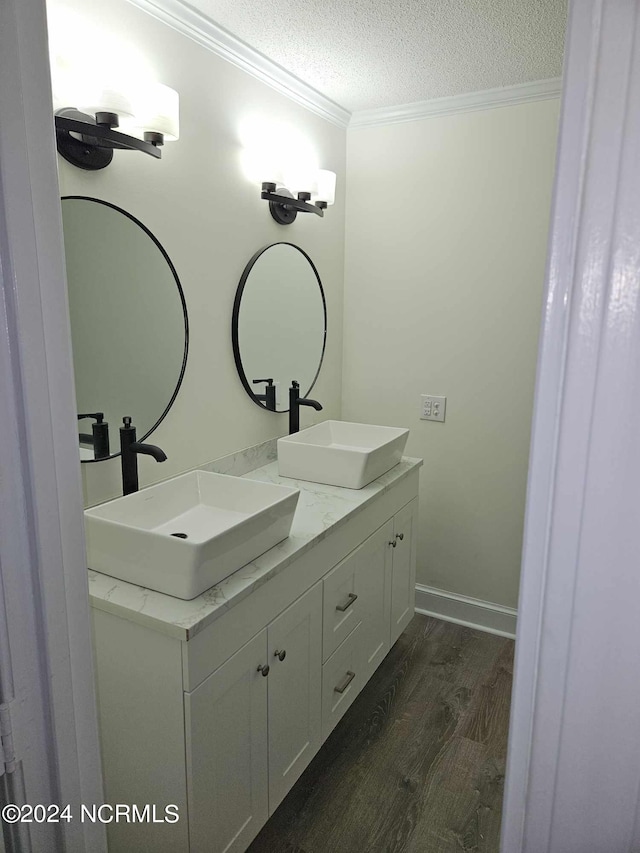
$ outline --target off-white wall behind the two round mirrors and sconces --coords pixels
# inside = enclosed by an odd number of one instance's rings
[[[83,172],[61,158],[63,195],[110,201],[138,217],[163,244],[182,282],[189,310],[190,352],[185,380],[165,421],[149,439],[168,461],[139,462],[147,485],[287,431],[287,416],[261,411],[245,394],[231,348],[231,312],[242,271],[259,248],[279,240],[300,245],[325,287],[329,316],[325,360],[303,425],[340,414],[342,282],[344,269],[345,131],[275,92],[124,0],[52,0],[89,18],[103,32],[135,44],[158,79],[181,97],[181,137],[161,161],[116,152],[101,172]],[[262,116],[288,122],[315,147],[320,165],[338,175],[336,204],[324,219],[273,221],[259,187],[241,169],[243,122]],[[112,425],[117,442],[117,425]],[[121,493],[120,461],[83,465],[85,502]]]

